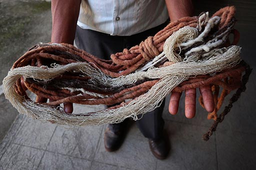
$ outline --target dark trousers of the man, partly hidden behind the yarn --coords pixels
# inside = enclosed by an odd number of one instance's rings
[[[89,29],[82,29],[77,25],[75,44],[78,48],[83,49],[98,58],[108,60],[110,59],[110,54],[121,52],[124,48],[130,48],[139,44],[148,36],[153,36],[159,30],[164,28],[166,24],[167,22],[131,36],[111,36]],[[164,101],[160,107],[144,114],[140,120],[136,121],[136,124],[144,137],[149,139],[158,139],[161,137],[164,126],[164,121],[162,119],[163,107]],[[141,117],[141,115],[138,117]],[[122,126],[122,123],[110,124],[110,128],[113,131],[117,130],[120,126]]]

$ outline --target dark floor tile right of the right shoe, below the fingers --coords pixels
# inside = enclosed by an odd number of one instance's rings
[[[157,161],[156,170],[216,170],[214,135],[209,141],[201,139],[204,127],[166,122],[171,150],[169,157]]]

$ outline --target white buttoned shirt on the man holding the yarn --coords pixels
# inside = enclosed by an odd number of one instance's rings
[[[110,35],[133,35],[168,18],[164,0],[82,0],[77,25]]]

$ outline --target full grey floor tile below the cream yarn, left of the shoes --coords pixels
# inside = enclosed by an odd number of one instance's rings
[[[57,127],[47,151],[91,160],[101,131],[102,126],[72,129]]]

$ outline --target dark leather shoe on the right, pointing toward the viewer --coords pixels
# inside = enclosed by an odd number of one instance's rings
[[[148,139],[149,148],[155,158],[158,160],[164,160],[167,158],[170,146],[167,138],[162,137],[157,140]]]

